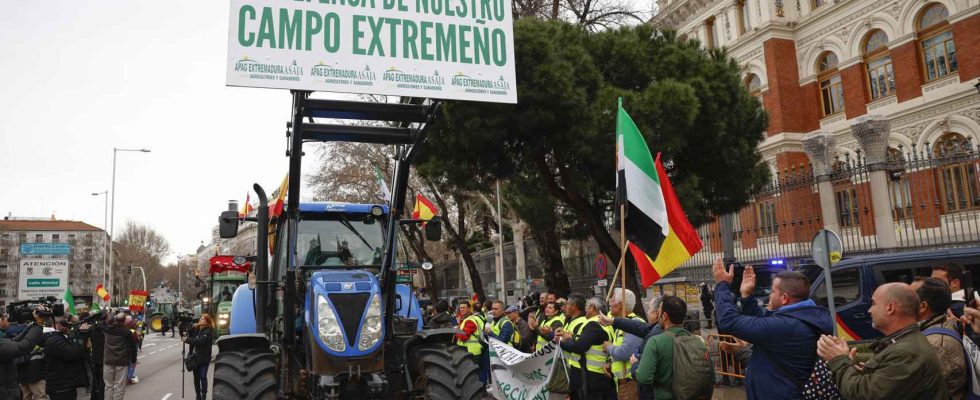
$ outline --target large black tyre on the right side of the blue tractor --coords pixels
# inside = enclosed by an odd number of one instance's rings
[[[415,351],[415,389],[425,399],[481,399],[480,366],[466,349],[451,343],[430,342]]]

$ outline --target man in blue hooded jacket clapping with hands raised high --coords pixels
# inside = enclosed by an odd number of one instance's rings
[[[755,271],[751,266],[742,275],[742,310],[736,308],[732,293],[735,271],[725,269],[715,259],[715,307],[718,330],[753,345],[752,358],[745,372],[745,392],[749,400],[799,399],[803,385],[816,363],[817,340],[834,331],[830,312],[807,299],[810,282],[798,272],[782,272],[773,279],[768,310],[754,298]]]

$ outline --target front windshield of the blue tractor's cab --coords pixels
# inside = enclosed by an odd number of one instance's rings
[[[326,214],[330,219],[303,219],[296,238],[300,265],[379,265],[383,255],[381,221],[364,215]],[[304,216],[306,218],[306,216]]]

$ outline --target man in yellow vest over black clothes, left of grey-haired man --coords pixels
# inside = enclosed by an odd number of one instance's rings
[[[606,373],[608,357],[602,351],[602,344],[612,340],[612,330],[599,324],[602,307],[600,297],[586,302],[585,296],[572,294],[565,305],[565,327],[556,332],[561,337],[562,350],[569,353],[573,400],[607,400],[616,395],[613,380]]]

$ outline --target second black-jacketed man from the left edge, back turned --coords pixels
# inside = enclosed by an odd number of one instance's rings
[[[87,349],[68,339],[68,324],[67,318],[59,319],[55,332],[44,341],[45,390],[51,400],[74,400],[75,388],[88,384],[84,364]],[[80,328],[87,329],[86,325]]]

